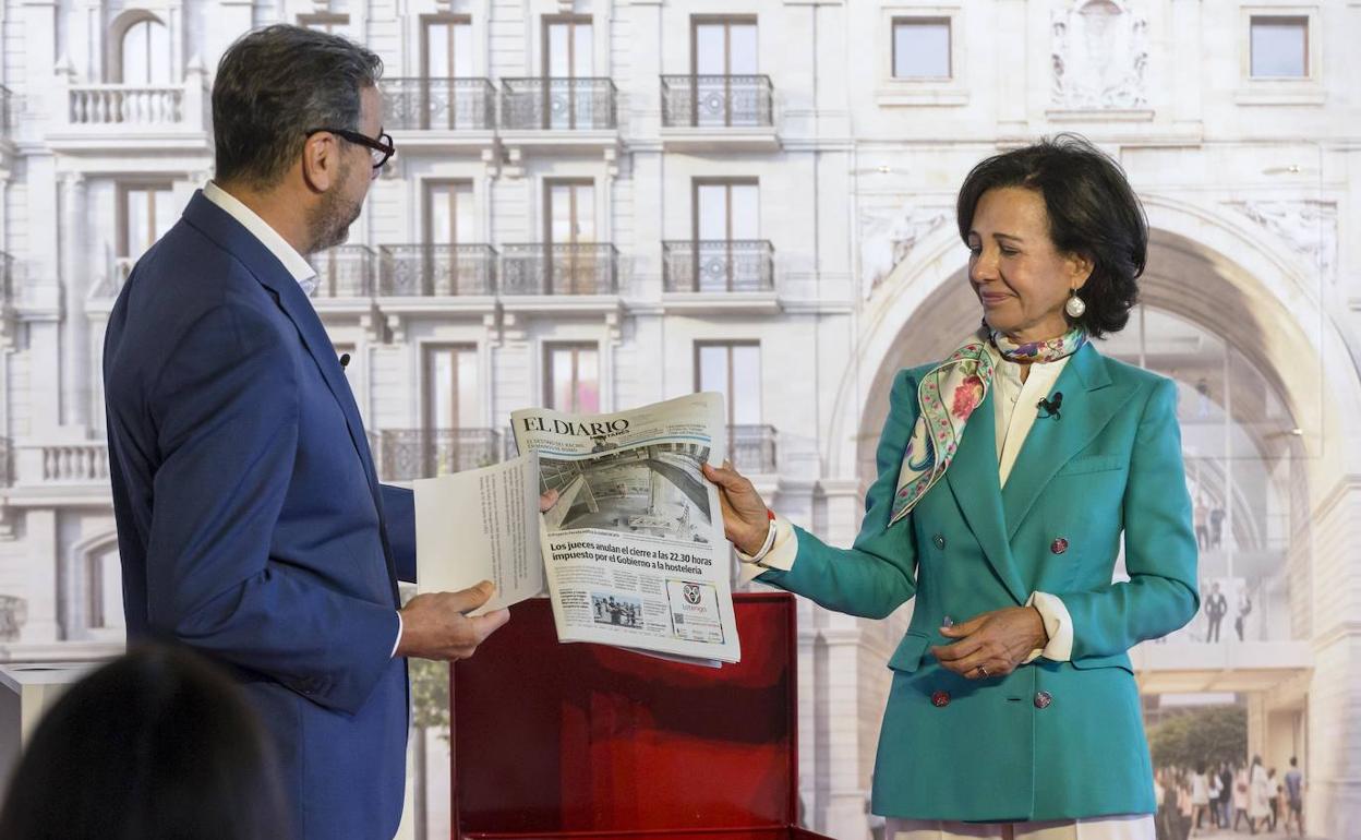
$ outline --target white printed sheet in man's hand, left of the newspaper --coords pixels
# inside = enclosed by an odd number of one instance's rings
[[[483,580],[497,591],[470,615],[543,592],[539,551],[539,459],[412,482],[418,592],[456,592]]]

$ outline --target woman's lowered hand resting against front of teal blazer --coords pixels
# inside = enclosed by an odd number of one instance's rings
[[[1040,610],[1007,607],[976,615],[940,634],[953,644],[936,645],[931,653],[940,664],[968,679],[1006,677],[1036,648],[1049,644]]]

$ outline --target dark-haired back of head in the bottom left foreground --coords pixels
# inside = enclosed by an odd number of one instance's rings
[[[290,837],[274,752],[241,689],[143,647],[71,688],[15,768],[0,837]]]

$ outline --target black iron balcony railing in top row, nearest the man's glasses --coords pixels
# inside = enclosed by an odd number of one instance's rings
[[[388,131],[491,131],[497,88],[487,79],[384,79],[382,116]]]

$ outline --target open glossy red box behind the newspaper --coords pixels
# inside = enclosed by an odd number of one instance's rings
[[[734,598],[742,662],[559,644],[534,599],[450,678],[453,836],[817,839],[796,828],[795,606]]]

